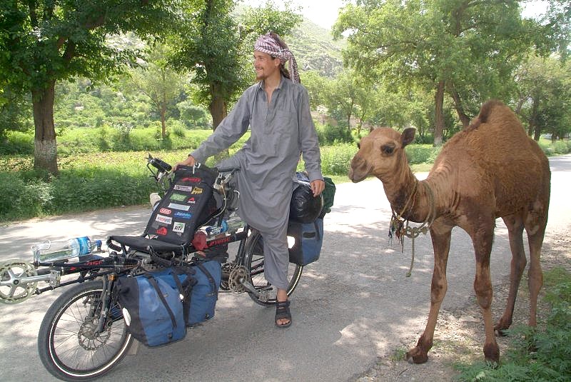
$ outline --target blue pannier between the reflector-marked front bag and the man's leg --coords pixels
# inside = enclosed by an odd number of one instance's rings
[[[222,278],[222,268],[218,261],[199,261],[193,263],[196,273],[196,285],[192,288],[188,325],[209,320],[214,316],[218,300],[218,287]]]

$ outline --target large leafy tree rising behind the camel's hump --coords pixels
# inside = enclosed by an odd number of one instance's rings
[[[333,26],[348,31],[344,59],[363,73],[434,94],[435,145],[445,94],[468,124],[483,99],[503,94],[530,44],[516,1],[369,0],[345,6]]]

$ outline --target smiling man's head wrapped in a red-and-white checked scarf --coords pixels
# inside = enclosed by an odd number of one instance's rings
[[[289,69],[285,69],[285,62],[289,61]],[[298,65],[288,46],[274,33],[263,34],[254,44],[254,68],[256,78],[263,80],[278,70],[283,76],[293,82],[300,82]]]

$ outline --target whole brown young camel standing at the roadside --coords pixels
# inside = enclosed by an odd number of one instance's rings
[[[429,214],[434,211],[428,323],[406,358],[415,363],[428,360],[438,311],[448,288],[446,264],[451,231],[459,226],[470,235],[475,250],[474,290],[484,316],[484,355],[488,361],[497,362],[500,350],[495,331],[501,334],[512,323],[517,288],[527,263],[524,228],[530,246],[529,324],[536,324],[537,294],[543,284],[540,251],[550,198],[549,162],[537,143],[525,134],[515,114],[500,101],[483,104],[473,123],[443,146],[425,181],[415,178],[405,155],[405,146],[413,142],[414,135],[415,129],[405,129],[402,135],[393,129],[375,129],[360,141],[349,171],[355,183],[369,175],[380,179],[393,211],[405,220],[429,219],[430,223]],[[494,326],[490,251],[496,218],[502,218],[507,226],[512,261],[507,305]]]

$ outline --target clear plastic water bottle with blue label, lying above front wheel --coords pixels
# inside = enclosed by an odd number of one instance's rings
[[[71,238],[68,241],[44,241],[31,246],[34,262],[53,263],[69,258],[85,256],[101,249],[101,240],[92,241],[87,236]]]

